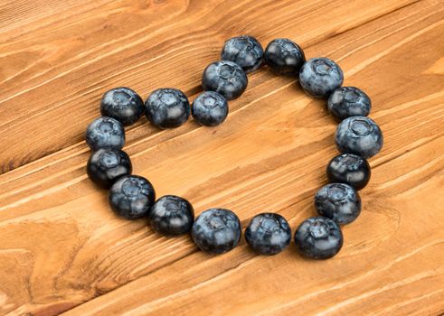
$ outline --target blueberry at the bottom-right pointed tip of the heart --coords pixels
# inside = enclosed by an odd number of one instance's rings
[[[341,228],[330,218],[307,218],[295,233],[299,253],[311,259],[331,258],[341,250],[343,243]]]

